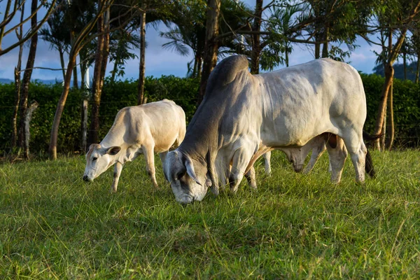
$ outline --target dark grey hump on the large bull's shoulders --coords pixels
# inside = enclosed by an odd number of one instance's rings
[[[232,55],[219,62],[211,71],[207,82],[206,94],[232,83],[237,73],[248,70],[248,59],[244,55]]]

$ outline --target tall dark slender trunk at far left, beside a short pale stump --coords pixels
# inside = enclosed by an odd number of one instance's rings
[[[31,13],[36,12],[38,6],[38,0],[32,0]],[[37,13],[31,18],[31,28],[36,28],[37,24]],[[31,38],[31,45],[29,47],[29,55],[26,65],[25,73],[23,74],[22,87],[20,92],[20,128],[19,128],[19,146],[24,148],[25,139],[25,116],[28,106],[28,94],[29,94],[29,83],[31,82],[32,68],[34,68],[36,46],[38,44],[38,34],[35,33]]]

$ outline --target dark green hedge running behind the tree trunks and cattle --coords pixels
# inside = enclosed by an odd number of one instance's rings
[[[374,74],[361,74],[367,99],[367,120],[365,130],[372,133],[377,106],[381,96],[384,78]],[[164,98],[172,99],[186,111],[187,119],[196,109],[196,95],[200,81],[175,76],[146,78],[145,92],[148,102]],[[420,141],[420,86],[411,81],[394,80],[395,145],[418,146]],[[31,151],[48,151],[50,130],[57,101],[62,92],[62,85],[43,85],[31,83],[29,102],[39,103],[31,121]],[[14,85],[0,84],[0,151],[10,147],[11,118],[13,114]],[[68,153],[77,151],[80,142],[80,104],[83,94],[71,90],[64,108],[59,127],[58,151]],[[111,127],[116,113],[125,106],[137,104],[137,81],[125,80],[111,82],[106,80],[99,109],[100,131],[102,139]]]

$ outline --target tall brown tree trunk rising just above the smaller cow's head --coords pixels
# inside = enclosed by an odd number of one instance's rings
[[[104,16],[101,15],[97,21],[98,33],[104,32]],[[98,36],[97,52],[94,59],[93,71],[93,85],[92,85],[92,116],[90,121],[88,145],[98,143],[98,129],[99,129],[99,91],[101,87],[101,71],[102,61],[104,55],[104,35]]]

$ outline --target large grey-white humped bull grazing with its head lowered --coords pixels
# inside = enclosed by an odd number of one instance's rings
[[[275,148],[302,147],[329,132],[344,141],[356,181],[362,183],[365,118],[363,83],[348,64],[316,59],[251,75],[246,57],[228,57],[212,71],[183,143],[168,153],[165,176],[178,202],[201,201],[210,186],[218,194],[217,177],[223,171],[216,170],[216,158],[221,158],[225,170],[232,162],[228,180],[235,193],[260,155]],[[331,179],[338,183],[346,153],[340,148],[328,152]]]

